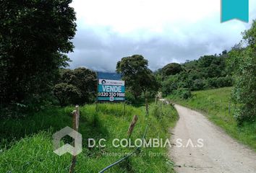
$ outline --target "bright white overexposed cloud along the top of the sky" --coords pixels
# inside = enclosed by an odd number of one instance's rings
[[[166,24],[195,23],[220,8],[216,0],[75,0],[77,19],[90,26],[110,26],[116,32],[145,29],[159,32]]]

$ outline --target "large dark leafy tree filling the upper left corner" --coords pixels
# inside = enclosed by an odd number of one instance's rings
[[[1,105],[50,92],[73,49],[71,0],[1,1]]]

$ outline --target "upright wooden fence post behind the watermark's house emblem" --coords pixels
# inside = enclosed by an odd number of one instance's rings
[[[72,120],[73,120],[73,129],[76,130],[78,132],[78,128],[79,128],[79,118],[80,118],[80,112],[79,112],[79,106],[76,105],[75,106],[75,110],[73,110],[72,112]],[[74,139],[73,139],[73,146],[74,146]],[[72,156],[72,163],[69,169],[69,173],[73,173],[74,172],[74,167],[75,167],[75,163],[77,162],[77,156]]]

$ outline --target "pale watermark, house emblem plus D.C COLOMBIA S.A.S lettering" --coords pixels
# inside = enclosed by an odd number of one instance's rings
[[[70,145],[69,143],[64,144],[61,146],[61,138],[64,136],[70,136],[74,139],[74,146]],[[78,133],[76,130],[69,128],[62,128],[61,130],[57,131],[53,135],[53,143],[54,143],[54,153],[58,154],[59,156],[69,153],[73,156],[77,156],[82,152],[82,134]],[[95,140],[94,138],[88,138],[88,147],[89,148],[105,148],[106,147],[106,139],[101,138],[99,140]],[[178,148],[183,147],[192,147],[192,148],[202,148],[204,146],[203,139],[198,138],[197,141],[192,141],[192,139],[187,139],[182,141],[181,138],[176,139],[174,143],[171,143],[170,139],[163,139],[163,138],[149,138],[148,140],[137,138],[135,141],[132,141],[130,138],[114,138],[112,140],[112,146],[115,148],[166,148],[176,146]]]

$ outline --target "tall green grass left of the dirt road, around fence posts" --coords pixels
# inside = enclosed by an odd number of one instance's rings
[[[0,172],[68,172],[72,156],[54,154],[52,134],[66,126],[72,127],[72,110],[73,107],[51,108],[32,113],[22,120],[1,121]],[[145,117],[145,107],[127,105],[124,116],[122,104],[99,104],[98,112],[95,112],[95,105],[80,107],[79,131],[83,151],[77,156],[76,172],[99,172],[124,153],[133,151],[135,148],[115,148],[111,144],[114,138],[127,138],[133,115],[139,118],[132,141],[142,137],[148,122],[146,138],[169,138],[168,128],[174,126],[177,119],[176,110],[171,105],[150,105],[148,118]],[[106,147],[88,148],[88,138],[105,138]],[[71,138],[64,138],[64,141],[70,142]],[[142,148],[140,154],[131,156],[108,172],[173,172],[172,162],[163,156],[166,152],[166,148]]]

